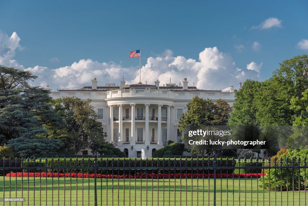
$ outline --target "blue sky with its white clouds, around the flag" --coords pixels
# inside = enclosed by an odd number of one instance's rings
[[[1,1],[0,64],[35,85],[142,80],[222,89],[308,53],[307,1]],[[15,32],[15,33],[14,33]],[[12,36],[13,35],[13,36]],[[207,48],[207,49],[206,49]],[[81,61],[84,60],[84,61]],[[74,64],[75,62],[75,64]],[[118,75],[119,74],[119,75]]]

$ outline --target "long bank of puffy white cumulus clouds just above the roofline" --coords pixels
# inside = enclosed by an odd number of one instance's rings
[[[124,67],[115,62],[98,62],[92,59],[81,59],[71,65],[64,65],[56,69],[45,66],[24,68],[14,60],[15,51],[21,48],[20,38],[14,32],[11,37],[0,33],[0,64],[25,69],[38,76],[33,86],[49,87],[51,89],[78,87],[83,84],[91,85],[91,79],[96,78],[98,85],[106,82],[120,84],[124,74],[126,84],[139,82],[139,67]],[[183,78],[188,78],[188,86],[199,89],[221,89],[246,79],[259,79],[258,75],[262,63],[251,62],[247,68],[235,67],[231,54],[219,51],[217,47],[205,48],[199,53],[198,59],[174,56],[169,49],[156,57],[148,57],[141,68],[141,82],[154,84],[156,79],[160,85],[170,82],[179,84]]]

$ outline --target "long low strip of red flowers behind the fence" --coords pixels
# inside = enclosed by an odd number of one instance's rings
[[[234,174],[234,178],[245,178],[245,176],[246,176],[246,178],[260,178],[260,177],[262,177],[263,175],[265,175],[265,174],[263,174],[263,173],[247,173],[247,174]],[[41,172],[41,173],[39,173],[39,172],[23,172],[23,173],[21,173],[21,172],[17,172],[17,173],[7,173],[6,174],[6,177],[64,177],[64,173],[51,173],[51,172]],[[122,175],[117,175],[117,174],[114,174],[113,175],[113,178],[114,179],[118,179],[118,176],[119,176],[119,179],[123,179],[124,178],[124,175],[122,174]],[[143,179],[145,179],[145,178],[147,178],[148,177],[148,179],[152,179],[152,174],[142,174],[142,175],[140,175],[140,174],[136,174],[136,179],[140,179],[140,177],[142,176],[142,178]],[[153,174],[153,179],[157,179],[157,176],[158,176],[158,178],[159,179],[163,179],[163,178],[165,178],[165,179],[168,179],[169,178],[169,174]],[[191,173],[188,173],[188,174],[185,174],[185,173],[182,173],[182,174],[173,174],[173,173],[171,173],[170,174],[170,179],[174,179],[174,176],[175,176],[175,178],[176,179],[179,179],[180,177],[182,177],[182,178],[202,178],[202,174],[191,174]],[[78,177],[78,178],[82,178],[82,177],[84,177],[84,178],[94,178],[94,174],[82,174],[82,173],[65,173],[65,177],[72,177],[72,178],[76,178],[76,177]],[[204,178],[214,178],[214,174],[204,174]],[[107,175],[106,174],[97,174],[97,176],[96,176],[96,178],[103,178],[103,179],[107,179]],[[108,179],[111,179],[112,178],[112,174],[108,174]],[[128,174],[125,174],[125,179],[128,179],[129,178],[129,175]],[[130,175],[130,178],[131,179],[135,179],[135,174],[131,174]],[[226,173],[224,173],[224,174],[216,174],[216,178],[227,178],[227,174]],[[233,178],[233,174],[228,174],[228,178]]]

